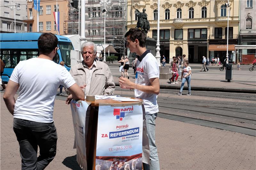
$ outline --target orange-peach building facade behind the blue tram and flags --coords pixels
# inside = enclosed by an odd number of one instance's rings
[[[67,34],[64,28],[67,25],[65,21],[68,20],[68,4],[68,0],[57,1],[57,4],[56,0],[40,0],[39,32],[58,34],[53,12],[60,12],[60,35]],[[27,17],[23,18],[23,22],[27,22],[27,31],[37,32],[37,11],[33,0],[27,1],[27,12]]]

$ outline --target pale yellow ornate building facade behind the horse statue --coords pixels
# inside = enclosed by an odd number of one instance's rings
[[[201,63],[202,57],[220,57],[227,53],[228,8],[225,0],[160,0],[160,54],[166,62],[173,56],[186,55],[189,63]],[[238,44],[239,0],[230,0],[228,54],[233,58]],[[157,39],[157,0],[127,1],[127,29],[137,25],[135,8],[146,9],[150,31]]]

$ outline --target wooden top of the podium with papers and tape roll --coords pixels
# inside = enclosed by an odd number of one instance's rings
[[[143,104],[142,99],[138,98],[131,98],[139,101],[118,101],[113,99],[104,99],[104,100],[94,100],[94,101],[86,101],[92,103],[92,106],[99,106],[99,105],[114,105],[114,106],[127,106],[127,105],[134,105],[134,104]]]

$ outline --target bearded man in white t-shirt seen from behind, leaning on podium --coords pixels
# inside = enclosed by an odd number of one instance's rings
[[[43,33],[38,39],[40,55],[18,63],[4,92],[20,145],[21,169],[44,169],[56,155],[58,137],[52,112],[58,87],[63,85],[74,99],[84,100],[84,92],[68,70],[52,61],[57,55],[57,45],[54,34]],[[20,92],[15,101],[18,88]]]

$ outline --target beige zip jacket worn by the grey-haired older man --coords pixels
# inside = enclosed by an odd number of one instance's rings
[[[107,64],[96,61],[96,68],[92,73],[89,96],[93,95],[111,95],[114,94],[115,83],[111,71]],[[77,85],[85,85],[86,74],[82,63],[71,67],[69,73],[76,81]],[[85,92],[85,88],[83,89]]]

